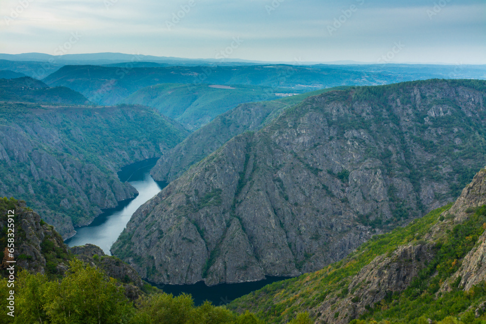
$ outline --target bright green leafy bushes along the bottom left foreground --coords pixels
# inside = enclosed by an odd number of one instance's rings
[[[194,306],[191,295],[155,293],[144,295],[134,305],[123,286],[104,272],[74,260],[62,280],[49,281],[44,274],[21,271],[15,288],[0,279],[0,307],[7,309],[9,290],[15,290],[14,324],[264,324],[254,314],[235,314],[206,302]],[[291,324],[310,324],[307,314],[298,314]]]

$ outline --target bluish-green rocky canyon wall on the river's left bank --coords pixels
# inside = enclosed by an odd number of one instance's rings
[[[0,105],[0,196],[36,208],[65,238],[104,208],[133,198],[124,165],[158,157],[186,132],[138,107]]]

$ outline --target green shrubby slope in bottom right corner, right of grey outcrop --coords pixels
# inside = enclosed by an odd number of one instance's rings
[[[464,256],[477,245],[486,228],[486,206],[476,209],[469,220],[446,230],[445,238],[436,241],[436,256],[410,286],[401,293],[390,294],[378,305],[370,305],[361,316],[367,323],[387,320],[392,323],[423,323],[423,319],[447,322],[448,316],[460,317],[463,323],[485,323],[486,315],[475,318],[474,310],[486,298],[486,283],[463,290],[461,277],[451,283],[450,291],[439,291],[442,283],[452,280]],[[482,315],[482,311],[479,315]],[[352,321],[361,323],[361,321]],[[450,323],[450,322],[449,322]]]

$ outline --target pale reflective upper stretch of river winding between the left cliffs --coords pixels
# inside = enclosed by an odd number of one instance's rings
[[[103,214],[96,217],[88,226],[76,228],[76,235],[65,241],[69,246],[78,246],[91,243],[102,248],[110,256],[111,245],[118,239],[132,214],[140,205],[154,197],[166,186],[157,183],[150,176],[150,169],[155,165],[156,159],[145,160],[118,172],[122,182],[128,181],[137,189],[139,195],[132,200],[121,202],[116,208],[105,209]]]

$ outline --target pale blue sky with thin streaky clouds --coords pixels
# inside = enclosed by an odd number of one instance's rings
[[[486,0],[0,0],[0,52],[486,64]]]

